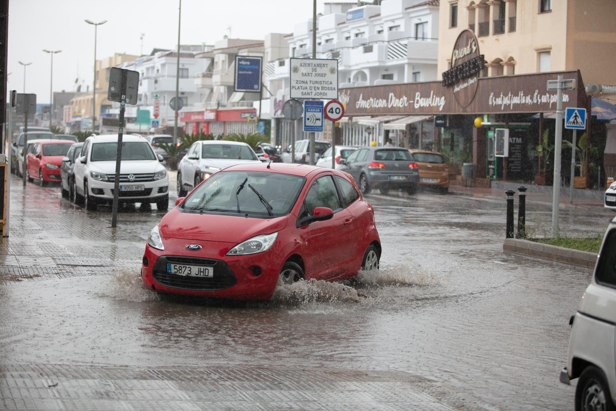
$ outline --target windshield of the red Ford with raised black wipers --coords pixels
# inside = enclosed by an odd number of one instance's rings
[[[282,173],[219,172],[198,186],[182,203],[181,208],[189,212],[280,217],[289,214],[305,182],[304,177]],[[242,184],[243,187],[236,197]],[[268,213],[269,207],[249,185],[272,206],[271,216]]]

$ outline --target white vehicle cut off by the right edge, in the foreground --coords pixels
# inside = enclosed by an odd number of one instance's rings
[[[561,383],[579,378],[575,410],[616,410],[616,218],[603,238],[593,281],[569,323]]]

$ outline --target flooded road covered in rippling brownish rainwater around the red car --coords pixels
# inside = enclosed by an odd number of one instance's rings
[[[145,239],[163,213],[126,209],[113,233],[108,209],[86,212],[55,187],[26,193],[12,193],[0,247],[0,363],[395,370],[496,409],[572,409],[558,372],[591,271],[503,253],[504,198],[367,196],[381,270],[229,303],[142,286]],[[549,226],[544,205],[527,213],[537,233]],[[565,209],[561,225],[602,233],[611,217]]]

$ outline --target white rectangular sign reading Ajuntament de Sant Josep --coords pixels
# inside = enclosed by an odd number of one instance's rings
[[[338,98],[338,60],[291,58],[291,98]]]

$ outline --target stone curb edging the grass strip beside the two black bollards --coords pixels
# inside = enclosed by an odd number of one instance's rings
[[[551,246],[549,244],[535,243],[535,241],[518,238],[506,238],[505,243],[503,243],[503,251],[588,268],[594,268],[598,257],[594,252]]]

